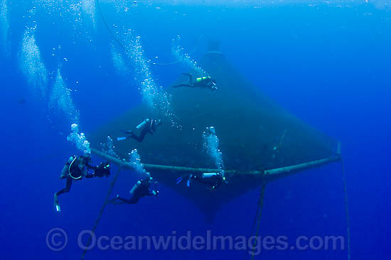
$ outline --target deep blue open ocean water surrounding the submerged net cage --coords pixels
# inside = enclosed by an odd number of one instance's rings
[[[188,52],[197,47],[191,57],[198,60],[206,50],[201,36],[208,35],[220,41],[227,60],[265,94],[340,140],[348,184],[351,257],[391,256],[389,1],[100,4],[114,35],[120,39],[130,35],[133,40],[139,36],[158,86],[168,86],[188,69],[181,62],[153,64],[176,60],[172,39],[180,35]],[[0,255],[2,259],[79,259],[77,235],[94,225],[111,179],[74,183],[61,198],[63,211],[55,213],[53,193],[64,186],[58,176],[69,155],[77,153],[66,138],[70,124],[77,121],[88,137],[88,132],[138,106],[143,74],[132,74],[137,60],[116,67],[112,52],[121,46],[105,27],[97,1],[3,0],[0,6],[4,91]],[[121,69],[130,72],[124,76]],[[72,91],[64,95],[60,88],[62,94],[56,96],[51,91],[59,72],[65,90]],[[71,105],[79,111],[77,119]],[[122,174],[114,193],[127,193],[129,183],[136,180],[137,176]],[[143,199],[136,207],[107,208],[97,234],[126,237],[176,231],[179,236],[190,230],[193,236],[205,236],[211,230],[218,235],[252,235],[259,189],[223,205],[214,222],[206,222],[190,200],[170,188],[159,189],[157,198]],[[346,236],[344,207],[340,164],[304,171],[267,185],[260,234],[290,239]],[[47,234],[54,227],[68,234],[68,245],[61,251],[48,248]],[[346,250],[264,250],[256,259],[346,259],[346,255]],[[250,259],[243,250],[93,249],[86,255],[86,259],[129,257]]]

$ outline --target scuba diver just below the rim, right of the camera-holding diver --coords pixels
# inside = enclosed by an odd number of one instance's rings
[[[107,203],[112,203],[114,205],[119,204],[137,204],[139,199],[145,196],[157,196],[159,191],[151,188],[151,183],[156,185],[157,182],[154,182],[151,176],[146,176],[145,179],[141,179],[134,184],[132,190],[129,191],[131,198],[122,198],[117,195],[115,198],[107,201]]]

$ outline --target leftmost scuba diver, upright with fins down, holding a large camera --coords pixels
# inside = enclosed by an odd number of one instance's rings
[[[108,177],[110,175],[110,164],[101,163],[99,166],[92,166],[90,154],[82,154],[80,156],[73,155],[69,157],[68,161],[61,171],[60,179],[66,179],[66,186],[60,191],[54,193],[54,205],[55,210],[60,212],[60,205],[58,204],[58,196],[63,193],[70,191],[73,180],[81,180],[85,178],[94,178],[94,177]],[[89,172],[89,169],[92,169],[92,173]]]

